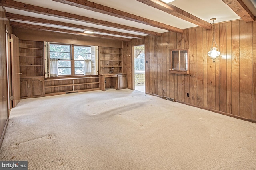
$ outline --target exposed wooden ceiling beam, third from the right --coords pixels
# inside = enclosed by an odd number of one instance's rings
[[[176,33],[182,33],[183,32],[182,29],[179,29],[179,28],[176,28],[176,27],[164,24],[164,23],[160,23],[160,22],[157,22],[157,21],[153,21],[153,20],[150,20],[150,19],[147,19],[147,18],[143,18],[141,16],[136,16],[136,15],[130,14],[128,12],[116,10],[116,9],[110,8],[108,6],[97,4],[97,3],[94,3],[94,2],[90,2],[88,0],[82,0],[82,1],[81,0],[52,0],[52,1],[60,2],[60,3],[63,3],[63,4],[68,4],[70,6],[75,6],[75,7],[83,8],[83,9],[86,9],[86,10],[91,10],[91,11],[94,11],[94,12],[100,12],[102,14],[107,14],[107,15],[122,18],[122,19],[125,19],[125,20],[135,21],[135,22],[138,22],[138,23],[150,25],[150,26],[153,26],[153,27],[158,27],[158,28],[165,29],[165,30],[172,31],[172,32],[176,32]]]

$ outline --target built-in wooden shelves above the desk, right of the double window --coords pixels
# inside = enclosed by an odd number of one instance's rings
[[[99,51],[99,72],[122,73],[122,49],[110,47],[98,47]]]

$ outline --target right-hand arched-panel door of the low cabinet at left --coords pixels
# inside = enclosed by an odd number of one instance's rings
[[[30,98],[44,96],[44,78],[30,78]]]

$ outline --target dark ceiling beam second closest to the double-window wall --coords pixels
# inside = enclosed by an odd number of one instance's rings
[[[109,30],[105,30],[105,29],[86,27],[86,26],[82,26],[82,25],[75,25],[75,24],[72,24],[72,23],[46,20],[46,19],[42,19],[42,18],[34,18],[34,17],[30,17],[30,16],[12,14],[12,13],[8,13],[8,12],[6,13],[6,18],[13,19],[13,20],[34,22],[34,23],[43,23],[43,24],[48,24],[48,25],[64,26],[64,27],[69,27],[69,28],[78,28],[78,29],[83,29],[83,30],[87,30],[87,31],[96,31],[96,32],[100,32],[100,33],[108,33],[108,34],[113,34],[113,35],[120,35],[120,36],[125,36],[125,37],[133,37],[133,38],[144,39],[144,36],[142,36],[142,35],[121,33],[121,32],[117,32],[117,31],[109,31]]]

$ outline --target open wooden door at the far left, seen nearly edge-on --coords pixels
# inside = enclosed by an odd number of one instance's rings
[[[12,63],[12,104],[15,107],[20,102],[20,57],[19,39],[11,34],[11,63]]]

